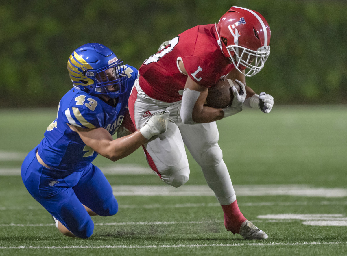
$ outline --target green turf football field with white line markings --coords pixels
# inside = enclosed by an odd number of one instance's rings
[[[62,236],[19,176],[55,117],[56,109],[0,110],[0,255],[347,255],[346,105],[246,109],[217,122],[240,210],[265,241],[225,230],[190,156],[189,181],[171,188],[141,150],[118,162],[96,158],[119,212],[92,217],[88,239]]]

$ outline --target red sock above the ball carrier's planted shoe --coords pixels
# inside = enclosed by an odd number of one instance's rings
[[[240,231],[241,224],[247,219],[243,216],[242,212],[238,208],[237,202],[229,205],[221,205],[224,212],[224,225],[228,231],[233,234],[238,234]]]

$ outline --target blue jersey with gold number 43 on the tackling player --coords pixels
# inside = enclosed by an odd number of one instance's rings
[[[128,75],[127,92],[120,95],[115,106],[99,97],[72,88],[60,100],[57,118],[44,133],[38,152],[45,164],[64,175],[82,171],[98,155],[86,146],[79,135],[67,124],[82,128],[103,127],[111,135],[121,125],[126,111],[132,86],[137,78],[137,70],[124,65]]]

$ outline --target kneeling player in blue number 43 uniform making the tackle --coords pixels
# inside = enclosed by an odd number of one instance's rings
[[[169,113],[154,114],[141,129],[125,125],[128,97],[137,70],[125,65],[102,44],[80,46],[67,62],[73,88],[60,100],[57,118],[22,164],[29,193],[53,216],[66,236],[88,238],[94,230],[90,216],[118,211],[112,188],[92,164],[100,154],[121,159],[155,135],[166,131]],[[124,127],[123,127],[124,126]],[[113,139],[118,130],[132,134]]]

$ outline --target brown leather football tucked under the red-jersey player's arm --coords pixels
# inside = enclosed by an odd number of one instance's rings
[[[232,86],[235,86],[237,91],[242,95],[243,91],[238,83],[234,80],[221,78],[215,85],[209,87],[205,105],[216,109],[229,106],[234,98],[231,90]]]

